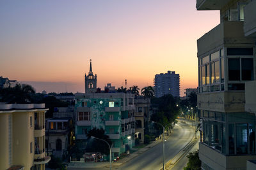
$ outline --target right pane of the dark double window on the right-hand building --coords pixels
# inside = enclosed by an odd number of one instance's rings
[[[253,59],[242,59],[242,80],[253,80]]]

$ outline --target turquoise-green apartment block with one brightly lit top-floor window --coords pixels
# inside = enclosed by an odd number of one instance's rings
[[[86,141],[86,134],[96,127],[103,128],[111,139],[113,159],[134,146],[134,94],[88,93],[75,96],[76,141],[86,145],[90,142]]]

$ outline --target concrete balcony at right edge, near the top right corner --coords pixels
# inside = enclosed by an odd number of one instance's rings
[[[244,35],[256,38],[256,1],[244,7]]]

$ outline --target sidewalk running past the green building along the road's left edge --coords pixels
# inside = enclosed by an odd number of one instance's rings
[[[159,144],[161,142],[162,142],[161,140],[153,141],[149,145],[147,145],[147,146],[145,146],[143,148],[138,149],[136,152],[127,155],[126,157],[118,160],[117,162],[112,162],[112,167],[121,166],[125,162],[128,162],[129,160],[134,159],[135,157],[138,157],[138,155],[140,155],[141,153],[146,152],[147,150],[149,150],[150,148],[156,146],[157,144]],[[79,163],[77,162],[77,163],[68,163],[68,167],[109,167],[109,162],[92,162],[92,163],[91,162],[90,163],[89,162],[79,162]]]

